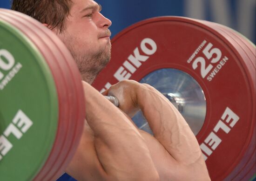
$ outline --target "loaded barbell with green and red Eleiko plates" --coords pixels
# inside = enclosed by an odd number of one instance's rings
[[[112,39],[112,59],[93,86],[102,92],[123,79],[153,85],[189,123],[213,181],[249,180],[255,58],[255,45],[226,26],[157,17]],[[0,9],[1,178],[56,180],[80,140],[83,100],[77,66],[56,35],[27,15]],[[151,132],[141,113],[133,120]]]

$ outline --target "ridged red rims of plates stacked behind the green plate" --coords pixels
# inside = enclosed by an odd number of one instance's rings
[[[57,36],[44,28],[40,22],[18,12],[4,9],[1,11],[1,14],[12,19],[13,24],[17,26],[21,32],[24,32],[27,37],[32,39],[40,52],[42,52],[46,58],[47,64],[52,67],[51,70],[53,71],[58,95],[59,97],[63,97],[59,100],[60,117],[58,130],[61,130],[61,132],[57,131],[51,154],[35,178],[35,180],[55,180],[67,167],[67,164],[74,155],[74,151],[81,136],[84,120],[84,105],[81,102],[81,100],[84,99],[81,87],[81,75],[67,48],[61,43]],[[51,56],[43,53],[46,52],[46,50],[48,50]],[[56,71],[60,72],[56,73]],[[65,86],[63,86],[63,84],[65,84]],[[61,88],[59,89],[58,87]],[[61,103],[62,100],[67,99],[65,98],[66,95],[69,95],[68,104],[65,102]],[[72,97],[70,97],[71,95]],[[68,130],[64,129],[67,124]],[[62,144],[63,141],[65,141],[64,144]]]

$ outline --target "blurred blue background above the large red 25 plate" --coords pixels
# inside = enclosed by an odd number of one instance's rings
[[[156,16],[185,16],[229,26],[256,44],[256,0],[96,0],[112,21],[112,37],[126,27]],[[0,0],[10,8],[10,0]],[[63,175],[59,181],[74,181]]]

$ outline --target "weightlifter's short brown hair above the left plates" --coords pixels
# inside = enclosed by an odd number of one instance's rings
[[[71,0],[13,0],[12,10],[27,14],[52,29],[65,29],[65,19],[69,14]]]

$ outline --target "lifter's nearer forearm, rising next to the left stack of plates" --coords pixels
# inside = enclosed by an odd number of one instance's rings
[[[86,119],[94,132],[97,156],[106,173],[121,180],[157,174],[144,139],[127,117],[88,84],[84,85],[84,91]]]

